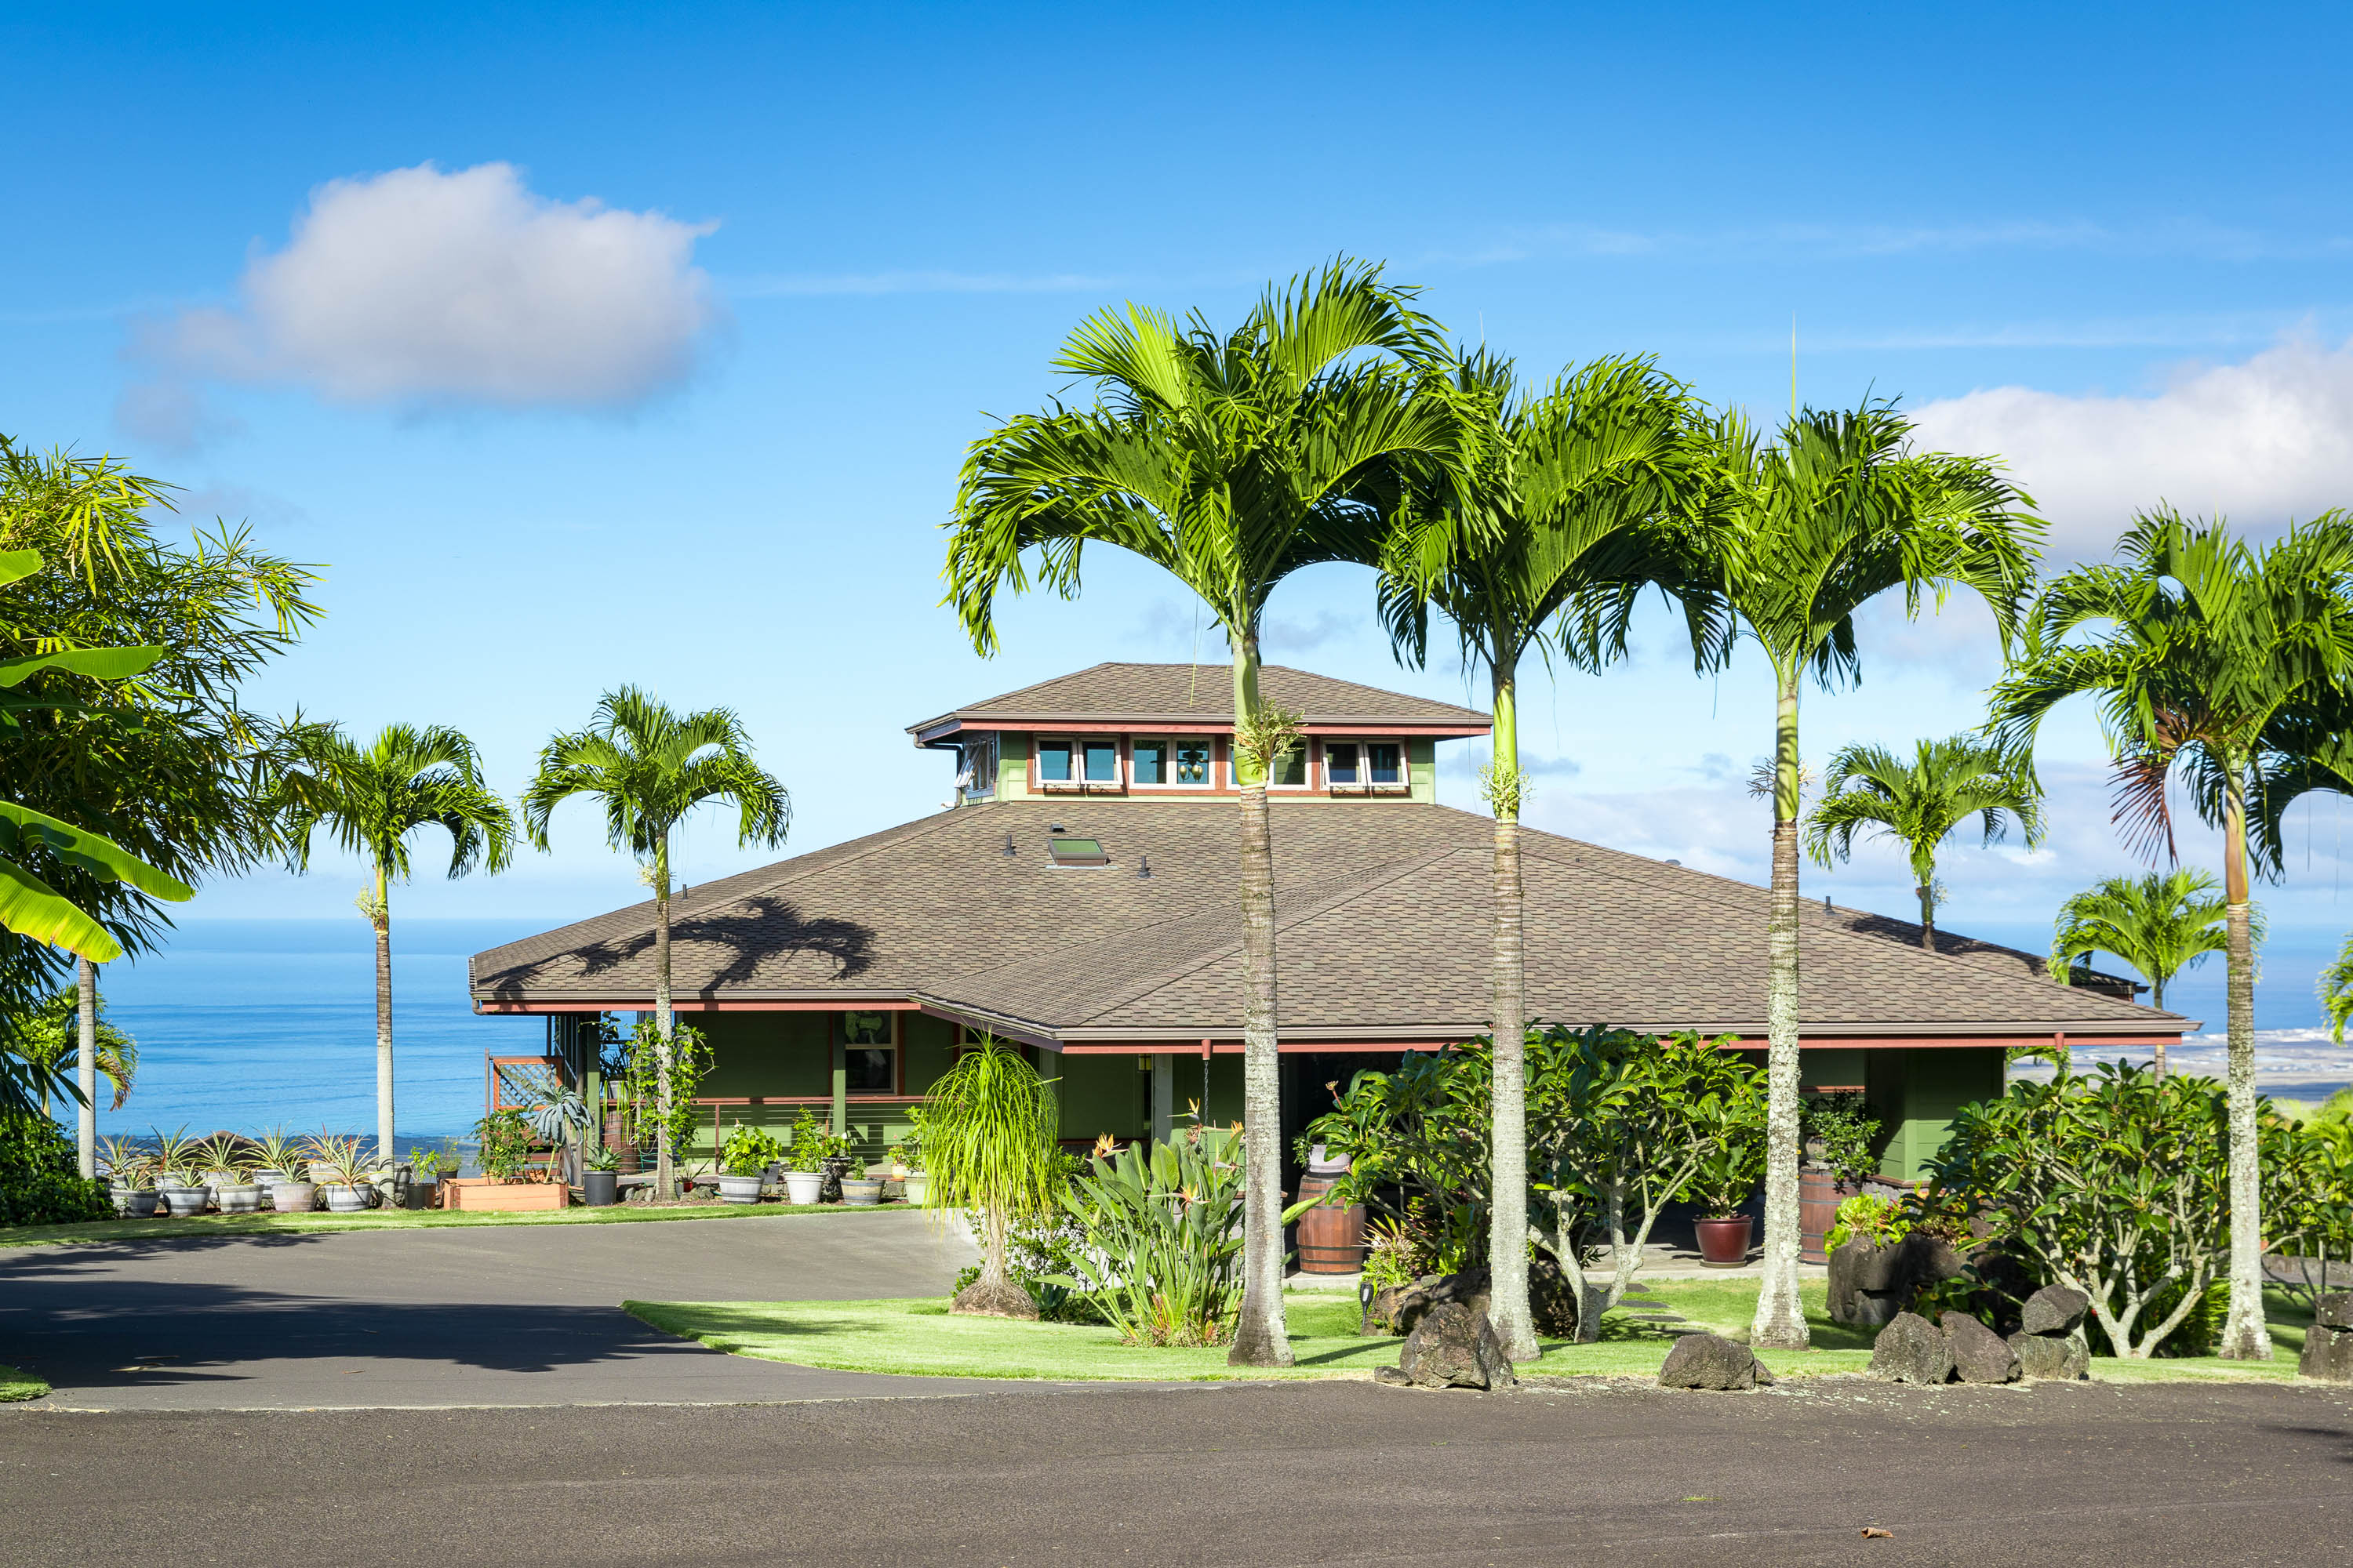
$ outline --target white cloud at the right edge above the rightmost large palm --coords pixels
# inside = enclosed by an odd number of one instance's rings
[[[2292,339],[2184,367],[2146,397],[2002,386],[1913,409],[1922,440],[1993,451],[2052,520],[2052,555],[2106,557],[2134,508],[2169,501],[2268,534],[2353,505],[2353,343]]]

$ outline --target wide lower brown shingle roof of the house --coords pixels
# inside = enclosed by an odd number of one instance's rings
[[[1049,825],[1113,865],[1054,867]],[[1409,802],[1275,804],[1282,1032],[1445,1039],[1487,1016],[1492,830]],[[1014,844],[1005,853],[1007,837]],[[673,910],[673,978],[694,999],[920,999],[1056,1039],[1233,1039],[1240,912],[1233,802],[967,806],[708,882]],[[1765,889],[1546,832],[1522,832],[1527,1004],[1560,1023],[1760,1034]],[[1144,860],[1151,877],[1139,877]],[[1911,936],[1901,936],[1911,933]],[[2186,1027],[2038,973],[1984,943],[1922,952],[1918,931],[1807,905],[1809,1034]],[[478,1001],[647,1006],[652,905],[473,959]]]

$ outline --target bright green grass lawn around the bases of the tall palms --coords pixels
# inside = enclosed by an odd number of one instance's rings
[[[1598,1345],[1544,1342],[1544,1361],[1522,1371],[1546,1375],[1654,1378],[1673,1340],[1668,1328],[1746,1328],[1755,1312],[1753,1279],[1661,1279],[1642,1288],[1649,1302],[1631,1302],[1602,1319]],[[1767,1349],[1765,1366],[1777,1378],[1859,1373],[1871,1363],[1871,1333],[1842,1328],[1824,1314],[1826,1286],[1805,1286],[1814,1349]],[[1358,1305],[1332,1291],[1292,1291],[1285,1312],[1294,1366],[1287,1371],[1231,1368],[1224,1349],[1151,1349],[1120,1345],[1108,1328],[1085,1324],[1016,1324],[991,1316],[951,1316],[941,1298],[868,1302],[621,1302],[624,1309],[664,1333],[699,1340],[713,1349],[800,1366],[852,1373],[906,1373],[932,1378],[1045,1378],[1045,1380],[1153,1380],[1200,1382],[1212,1378],[1367,1378],[1374,1366],[1395,1366],[1398,1340],[1355,1333]],[[2092,1375],[2118,1382],[2158,1380],[2278,1380],[2297,1375],[2304,1328],[2285,1302],[2273,1302],[2273,1361],[2115,1361],[2099,1356]],[[1685,1324],[1652,1324],[1635,1312],[1673,1312]],[[2308,1321],[2308,1319],[2306,1319]],[[2097,1335],[2094,1335],[2097,1338]]]

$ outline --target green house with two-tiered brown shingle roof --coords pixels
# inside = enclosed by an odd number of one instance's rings
[[[1435,804],[1438,748],[1487,715],[1268,665],[1306,717],[1275,769],[1285,1147],[1332,1086],[1485,1032],[1492,820]],[[1240,813],[1224,670],[1106,663],[908,726],[955,804],[673,900],[680,1018],[713,1046],[701,1143],[814,1107],[868,1154],[960,1041],[1019,1041],[1071,1145],[1242,1114]],[[1527,1004],[1544,1020],[1765,1046],[1765,889],[1548,832],[1522,835]],[[1864,1088],[1913,1178],[2012,1046],[2172,1041],[2188,1025],[2028,952],[1807,905],[1805,1086]],[[480,952],[478,1013],[649,1011],[652,903]]]

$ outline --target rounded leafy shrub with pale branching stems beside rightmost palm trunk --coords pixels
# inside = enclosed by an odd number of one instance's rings
[[[2294,1126],[2268,1100],[2259,1112],[2266,1143],[2285,1145]],[[1953,1117],[1929,1199],[1972,1215],[2038,1281],[2082,1291],[2115,1354],[2146,1359],[2231,1251],[2228,1124],[2228,1091],[2209,1079],[2127,1063],[2012,1081]]]

